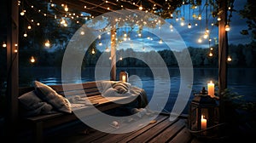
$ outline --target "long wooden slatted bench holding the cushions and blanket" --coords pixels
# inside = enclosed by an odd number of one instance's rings
[[[74,84],[68,84],[65,89],[65,94],[62,85],[49,85],[52,89],[55,89],[55,91],[58,94],[63,95],[64,97],[66,96],[71,96],[71,95],[80,95],[80,94],[86,94],[86,98],[90,100],[91,103],[97,103],[95,106],[98,110],[104,112],[108,111],[110,109],[123,106],[122,104],[117,104],[114,103],[111,100],[107,100],[102,96],[102,94],[99,91],[99,87],[96,84],[96,82],[87,82],[87,83],[82,83],[83,89],[80,88],[81,84],[79,83],[74,83]],[[26,87],[26,88],[20,88],[19,89],[19,95],[25,94],[29,91],[34,90],[33,87]],[[130,97],[117,97],[114,98],[113,100],[119,100],[119,101],[125,101],[125,100],[130,100]],[[88,115],[95,114],[96,112],[91,112],[95,110],[90,110],[92,106],[86,106],[86,108],[83,108],[83,112]],[[84,110],[85,109],[85,110]],[[55,127],[58,125],[61,125],[62,123],[67,123],[67,122],[72,122],[75,120],[78,120],[79,118],[76,117],[74,112],[72,113],[64,113],[64,112],[57,112],[53,114],[47,114],[47,115],[39,115],[36,117],[26,117],[22,118],[21,121],[22,123],[26,124],[26,127],[31,127],[32,128],[32,133],[35,142],[43,142],[44,140],[44,129],[49,129],[51,127]]]

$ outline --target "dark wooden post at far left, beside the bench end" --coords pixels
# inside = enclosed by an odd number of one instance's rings
[[[19,89],[19,7],[16,0],[9,0],[7,16],[7,94],[6,94],[6,131],[16,140],[18,121]]]

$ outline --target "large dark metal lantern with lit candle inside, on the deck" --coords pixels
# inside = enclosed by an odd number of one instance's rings
[[[218,124],[218,102],[203,87],[189,105],[189,130],[196,135],[211,135]],[[210,130],[211,129],[211,130]]]

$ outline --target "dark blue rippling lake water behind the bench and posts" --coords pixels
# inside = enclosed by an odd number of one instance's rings
[[[164,107],[166,111],[171,112],[172,106],[174,105],[177,94],[179,92],[180,86],[180,71],[178,68],[169,68],[170,81],[166,80],[165,77],[154,77],[153,73],[149,68],[143,67],[129,67],[129,68],[118,68],[117,73],[121,70],[128,72],[129,76],[135,77],[129,80],[131,85],[136,85],[143,88],[150,100],[153,94],[160,99],[161,96],[166,92],[165,86],[166,82],[171,81],[170,94],[166,106]],[[109,80],[109,77],[101,77],[102,79]],[[247,101],[256,101],[256,69],[246,69],[246,68],[232,68],[228,70],[228,88],[232,89],[238,94],[244,95],[244,99]],[[86,68],[82,71],[81,80],[70,79],[70,81],[65,81],[66,83],[80,83],[95,81],[95,69]],[[61,68],[55,67],[32,67],[20,69],[20,87],[32,86],[32,81],[38,80],[45,84],[61,84]],[[194,69],[194,80],[190,89],[192,93],[189,95],[189,101],[193,99],[193,94],[197,94],[201,91],[202,87],[207,88],[207,83],[212,80],[213,82],[218,82],[218,68],[195,68]],[[159,84],[162,89],[157,89],[157,93],[154,92],[154,87]],[[189,105],[188,101],[188,105]],[[188,112],[188,105],[183,110],[184,113]],[[163,106],[163,105],[157,105]]]

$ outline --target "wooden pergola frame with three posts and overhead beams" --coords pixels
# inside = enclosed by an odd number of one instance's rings
[[[47,0],[49,2],[49,0]],[[9,0],[8,2],[8,35],[7,35],[7,70],[8,70],[8,78],[7,78],[7,117],[5,123],[7,134],[15,136],[16,134],[16,125],[18,123],[18,92],[19,92],[19,6],[17,4],[17,0]],[[96,0],[78,0],[78,1],[63,1],[63,0],[55,0],[55,3],[68,3],[73,6],[73,9],[78,9],[78,4],[87,3],[89,5],[96,6],[98,1]],[[86,11],[84,12],[93,13],[93,14],[104,14],[109,11],[118,10],[113,3],[113,0],[109,1],[109,5],[112,5],[114,9],[108,9],[105,6],[99,6],[99,9]],[[159,1],[152,0],[144,0],[143,2],[154,3],[157,7],[162,7]],[[224,105],[222,101],[221,92],[227,88],[227,49],[228,49],[228,38],[227,32],[224,30],[224,26],[227,20],[227,2],[225,0],[218,1],[219,4],[219,16],[221,20],[218,21],[218,88],[219,88],[219,98],[220,98],[220,122],[223,122],[224,118]],[[129,9],[137,9],[138,5],[126,5],[126,8]],[[82,9],[78,9],[82,10]],[[114,33],[114,30],[111,31]],[[116,79],[116,57],[115,57],[115,49],[114,44],[111,44],[111,57],[112,57],[112,70],[111,70],[111,80]],[[15,137],[11,140],[15,140]]]

